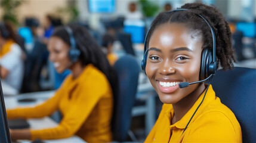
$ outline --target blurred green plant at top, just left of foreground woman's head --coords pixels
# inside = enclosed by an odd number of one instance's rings
[[[140,0],[139,4],[143,10],[143,14],[146,17],[153,17],[159,10],[159,6],[152,1]]]

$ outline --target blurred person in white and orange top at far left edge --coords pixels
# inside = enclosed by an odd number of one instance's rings
[[[10,23],[0,23],[0,76],[1,82],[20,91],[24,72],[24,53]],[[3,89],[4,94],[8,91]]]

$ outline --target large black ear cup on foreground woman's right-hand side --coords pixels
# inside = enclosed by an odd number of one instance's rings
[[[203,49],[201,57],[200,80],[206,79],[211,73],[209,65],[212,62],[212,52],[209,49]]]

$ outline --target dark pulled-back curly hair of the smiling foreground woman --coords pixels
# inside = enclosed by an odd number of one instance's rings
[[[211,30],[203,18],[198,15],[200,14],[208,21],[215,33],[217,65],[220,64],[224,70],[232,69],[234,66],[233,61],[235,61],[235,51],[232,48],[232,34],[229,24],[220,11],[213,6],[202,3],[185,4],[181,8],[189,11],[162,12],[158,14],[148,33],[146,46],[148,47],[150,36],[159,25],[164,23],[183,23],[186,24],[191,33],[199,32],[203,41],[202,48],[212,50]]]

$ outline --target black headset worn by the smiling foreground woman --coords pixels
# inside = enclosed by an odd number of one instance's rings
[[[173,11],[168,11],[166,13],[172,13],[174,11],[189,11],[189,10],[181,8],[181,9],[177,9],[177,10],[173,10]],[[200,14],[196,14],[196,15],[199,15],[201,18],[203,18],[202,15],[200,15]],[[203,18],[203,20],[207,23],[207,25],[211,29],[212,43],[213,43],[212,51],[213,52],[211,52],[211,50],[208,48],[205,48],[202,51],[201,69],[200,69],[200,73],[199,73],[200,80],[208,79],[208,77],[211,76],[212,74],[215,74],[216,70],[217,70],[215,33],[214,33],[214,30],[212,29],[211,25],[208,23],[208,21],[205,18]],[[149,33],[150,28],[147,31],[147,34]],[[149,54],[149,49],[146,47],[147,34],[146,34],[146,38],[144,41],[144,56],[143,56],[143,60],[141,61],[141,69],[144,70],[145,74],[146,74],[147,55]]]

